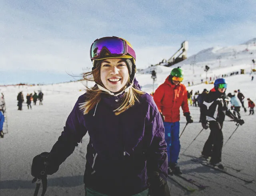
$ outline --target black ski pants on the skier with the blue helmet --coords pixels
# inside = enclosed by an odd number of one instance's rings
[[[208,140],[204,144],[202,155],[210,156],[211,163],[221,162],[221,153],[223,146],[223,123],[217,121],[210,121],[209,128],[211,130]]]

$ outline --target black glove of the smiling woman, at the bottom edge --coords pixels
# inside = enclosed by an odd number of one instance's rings
[[[148,178],[148,196],[170,196],[168,184],[158,172]]]

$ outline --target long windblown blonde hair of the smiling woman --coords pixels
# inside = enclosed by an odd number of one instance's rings
[[[96,84],[99,84],[100,86],[104,85],[102,84],[102,81],[100,79],[100,67],[97,66],[92,72],[86,72],[83,74],[83,78],[86,81],[93,81],[96,82]],[[130,81],[130,80],[128,80]],[[127,84],[122,88],[124,90],[130,82],[127,82]],[[94,108],[100,102],[102,93],[106,93],[103,90],[100,90],[98,86],[93,87],[86,87],[86,100],[84,103],[80,104],[80,109],[84,114],[88,114],[90,110]],[[141,90],[138,90],[134,88],[133,86],[128,89],[128,91],[124,94],[124,97],[122,98],[122,104],[115,110],[113,110],[115,115],[121,114],[122,112],[126,111],[128,108],[131,108],[134,106],[136,102],[139,102],[139,96],[145,94],[145,92],[142,92]]]

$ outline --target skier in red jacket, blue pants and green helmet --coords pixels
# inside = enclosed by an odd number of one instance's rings
[[[174,174],[182,174],[177,162],[180,153],[180,107],[187,123],[193,122],[188,108],[188,92],[185,85],[180,83],[182,80],[183,71],[179,67],[174,68],[154,94],[154,101],[164,119],[169,174],[171,170]]]

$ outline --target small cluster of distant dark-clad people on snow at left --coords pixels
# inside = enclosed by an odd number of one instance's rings
[[[34,94],[32,95],[32,93],[28,93],[27,96],[26,96],[26,104],[28,106],[28,109],[32,109],[32,106],[31,106],[31,102],[33,101],[34,102],[34,105],[36,105],[36,102],[37,100],[39,100],[39,105],[42,105],[43,104],[43,92],[41,90],[38,91],[38,94],[34,91]],[[18,100],[18,110],[22,110],[22,103],[24,102],[24,96],[23,96],[23,93],[22,91],[18,93],[18,96],[17,96],[17,100]]]

